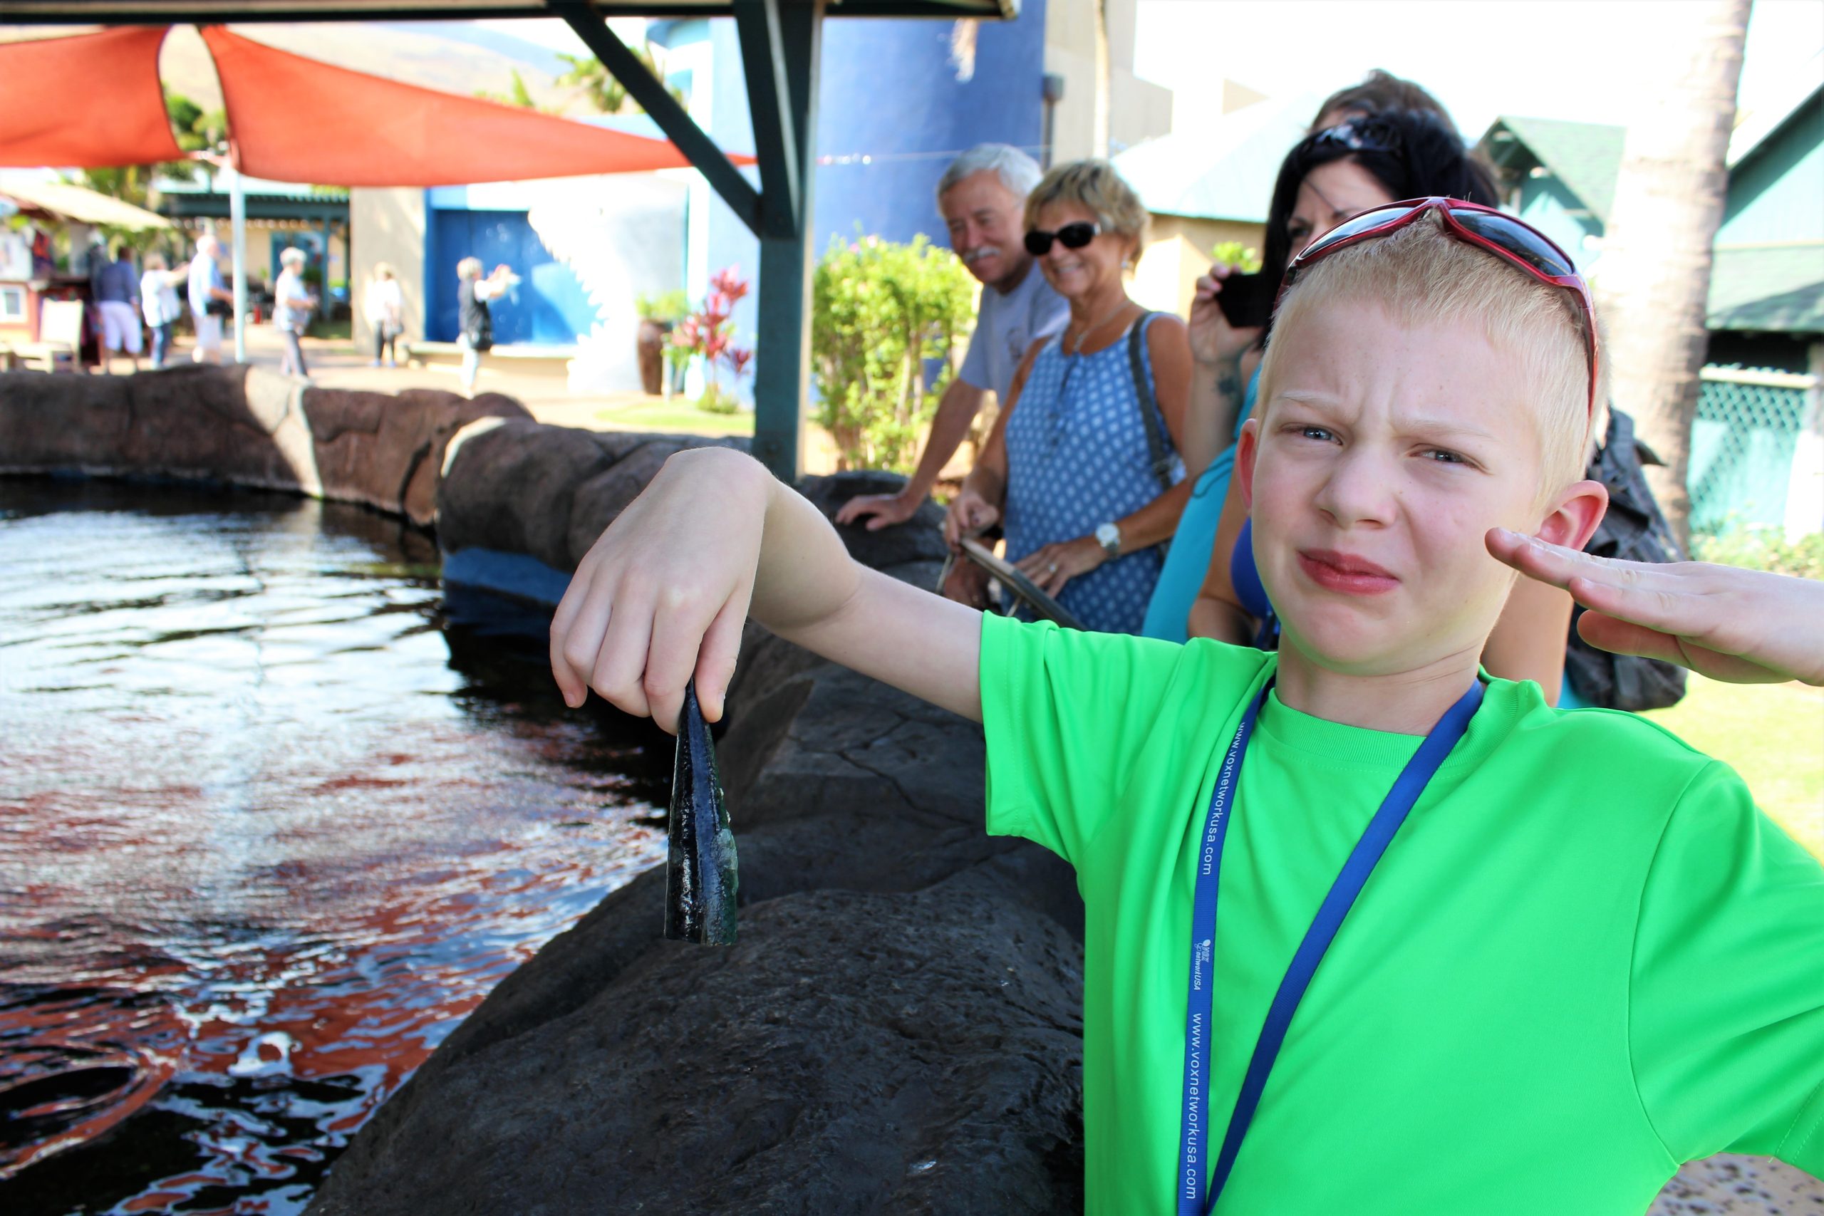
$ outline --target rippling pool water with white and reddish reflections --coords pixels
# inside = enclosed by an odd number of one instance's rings
[[[434,563],[350,507],[0,478],[0,1211],[301,1211],[660,857],[657,738],[445,629]]]

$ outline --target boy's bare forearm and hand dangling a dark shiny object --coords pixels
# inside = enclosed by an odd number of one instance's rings
[[[679,452],[595,541],[551,620],[551,673],[677,729],[684,684],[711,722],[750,616],[788,642],[981,720],[981,614],[857,565],[757,461]]]

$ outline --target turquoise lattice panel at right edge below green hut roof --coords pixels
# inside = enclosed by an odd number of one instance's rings
[[[1693,536],[1786,521],[1811,383],[1789,372],[1704,368],[1685,478]]]

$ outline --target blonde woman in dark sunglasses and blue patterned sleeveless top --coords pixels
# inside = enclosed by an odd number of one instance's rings
[[[1178,459],[1191,385],[1184,321],[1127,297],[1145,222],[1107,160],[1058,166],[1027,197],[1025,248],[1071,319],[1027,350],[945,521],[952,545],[1003,523],[1007,558],[1107,633],[1140,633],[1160,541],[1189,492]],[[947,594],[979,605],[981,576],[958,571]]]

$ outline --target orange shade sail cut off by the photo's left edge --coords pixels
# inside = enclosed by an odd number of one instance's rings
[[[0,46],[0,166],[179,160],[159,84],[166,27]]]

